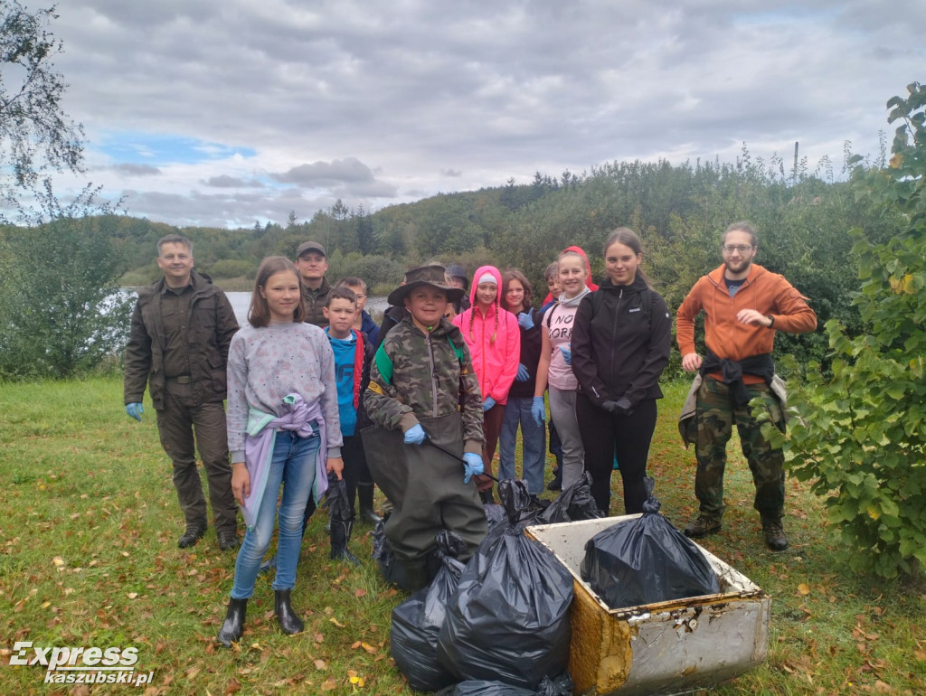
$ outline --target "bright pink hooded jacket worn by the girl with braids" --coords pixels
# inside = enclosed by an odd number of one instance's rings
[[[494,304],[483,317],[476,300],[476,289],[479,287],[479,279],[485,273],[494,276],[498,293]],[[501,307],[502,274],[498,268],[482,266],[476,269],[469,288],[469,302],[472,306],[454,317],[454,324],[463,333],[463,339],[469,347],[482,398],[491,396],[496,404],[506,404],[508,390],[518,374],[520,329],[517,317]]]

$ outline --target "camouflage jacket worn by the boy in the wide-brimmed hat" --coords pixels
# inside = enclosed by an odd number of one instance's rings
[[[454,346],[463,354],[464,452],[482,454],[482,393],[463,334],[446,319],[441,319],[427,336],[412,323],[411,317],[402,319],[386,334],[380,350],[392,361],[393,377],[385,379],[378,365],[380,359],[374,359],[364,404],[369,418],[390,430],[405,431],[417,424],[419,418],[455,413],[459,405],[461,360]]]

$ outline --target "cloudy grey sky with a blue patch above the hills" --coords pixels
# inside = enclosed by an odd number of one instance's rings
[[[26,0],[32,8],[42,6]],[[86,180],[252,227],[615,160],[876,155],[922,0],[65,0]],[[73,185],[62,180],[62,190]]]

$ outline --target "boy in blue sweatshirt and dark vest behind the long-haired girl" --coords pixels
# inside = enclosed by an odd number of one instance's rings
[[[373,357],[373,346],[363,331],[353,328],[357,317],[357,295],[350,288],[335,286],[328,293],[322,310],[328,319],[328,340],[334,352],[334,380],[338,389],[338,412],[341,416],[341,435],[344,446],[344,486],[350,503],[350,519],[335,519],[332,516],[332,559],[344,559],[359,563],[357,557],[347,550],[351,529],[356,519],[354,500],[358,485],[361,491],[360,510],[366,515],[366,506],[372,512],[373,478],[369,474],[367,456],[363,451],[359,429],[369,425],[363,408],[361,394],[369,382],[369,365]],[[358,421],[361,421],[358,425]],[[365,506],[365,496],[369,497]]]

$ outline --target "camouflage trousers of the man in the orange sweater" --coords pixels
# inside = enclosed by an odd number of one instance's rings
[[[766,383],[747,385],[751,398],[760,398],[771,420],[784,429],[782,404]],[[701,503],[701,515],[720,519],[723,516],[723,471],[727,465],[727,442],[733,424],[740,435],[743,455],[756,484],[754,507],[763,518],[778,520],[784,513],[784,454],[762,436],[762,431],[748,405],[737,408],[730,388],[723,382],[705,377],[697,392],[697,474],[694,494]]]

